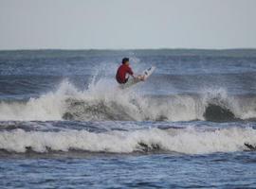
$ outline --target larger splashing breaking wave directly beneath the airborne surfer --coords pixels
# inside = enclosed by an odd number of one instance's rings
[[[256,96],[229,96],[225,90],[201,94],[145,95],[120,90],[107,79],[78,90],[64,80],[58,90],[27,101],[1,101],[0,120],[129,120],[227,122],[256,118]]]

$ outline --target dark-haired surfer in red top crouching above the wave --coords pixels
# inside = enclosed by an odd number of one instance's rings
[[[130,76],[134,77],[135,79],[144,80],[143,76],[135,77],[134,72],[129,65],[130,65],[129,59],[123,58],[122,64],[119,66],[119,69],[117,71],[117,75],[116,75],[117,81],[120,84],[126,83],[129,79],[129,76],[127,77],[127,75],[130,75]]]

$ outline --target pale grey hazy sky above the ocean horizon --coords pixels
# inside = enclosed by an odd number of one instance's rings
[[[256,48],[256,0],[0,0],[0,49]]]

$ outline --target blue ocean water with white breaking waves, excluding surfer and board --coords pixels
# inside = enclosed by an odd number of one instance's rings
[[[255,81],[253,49],[0,51],[0,186],[255,188]]]

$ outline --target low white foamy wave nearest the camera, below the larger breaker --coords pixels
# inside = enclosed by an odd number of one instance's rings
[[[86,130],[0,132],[0,149],[15,153],[82,150],[89,152],[134,153],[166,151],[205,154],[251,150],[256,131],[229,129],[138,129],[101,133]]]

